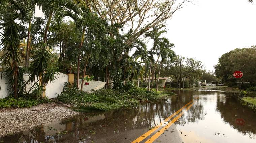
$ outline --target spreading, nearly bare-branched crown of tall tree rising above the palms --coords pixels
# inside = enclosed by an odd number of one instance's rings
[[[176,0],[84,0],[91,9],[102,19],[109,21],[110,25],[131,24],[134,31],[126,44],[132,43],[145,33],[152,31],[153,27],[161,29],[173,14],[183,7],[188,0],[178,3]],[[152,12],[154,11],[154,12]]]

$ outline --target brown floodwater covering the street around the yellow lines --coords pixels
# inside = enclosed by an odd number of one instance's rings
[[[193,106],[170,127],[168,141],[198,143],[255,143],[256,113],[241,105],[234,93],[177,90],[137,108],[108,112],[81,113],[72,118],[0,138],[1,142],[132,142],[154,126],[165,126],[165,119],[185,104]],[[154,133],[153,133],[154,134]],[[185,136],[186,135],[186,136]],[[145,142],[143,140],[141,142]]]

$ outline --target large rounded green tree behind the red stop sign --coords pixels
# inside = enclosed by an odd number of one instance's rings
[[[241,79],[247,80],[252,86],[256,81],[256,47],[251,48],[237,48],[223,54],[214,66],[215,74],[221,78],[222,81],[230,86],[236,79],[233,77],[234,71],[242,71],[243,77]]]

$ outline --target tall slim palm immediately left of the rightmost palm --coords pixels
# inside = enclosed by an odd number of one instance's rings
[[[151,60],[150,60],[150,66],[149,66],[149,81],[148,81],[148,84],[149,84],[149,87],[148,89],[150,89],[150,73],[151,73],[151,67],[152,67],[152,62],[153,62],[153,56],[155,53],[155,51],[157,50],[156,47],[157,45],[159,45],[159,42],[162,38],[160,38],[160,36],[163,34],[163,33],[166,33],[167,31],[165,30],[160,30],[158,31],[158,29],[156,27],[153,27],[153,30],[149,33],[146,33],[145,36],[146,37],[150,37],[154,43],[153,43],[153,47],[152,49],[150,50],[150,54],[151,54]],[[159,58],[158,58],[159,59]],[[158,62],[158,61],[157,61]],[[157,63],[156,62],[156,63]],[[153,79],[154,79],[154,74],[152,74],[152,86],[153,86]],[[151,89],[150,89],[151,90]]]

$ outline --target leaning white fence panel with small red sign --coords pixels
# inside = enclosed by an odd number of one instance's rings
[[[81,83],[82,83],[82,79],[79,79],[79,87],[81,88]],[[89,83],[88,85],[86,85],[86,83]],[[83,86],[83,90],[85,92],[90,92],[91,90],[98,90],[101,89],[105,86],[106,82],[102,82],[102,81],[84,81],[84,86]]]

